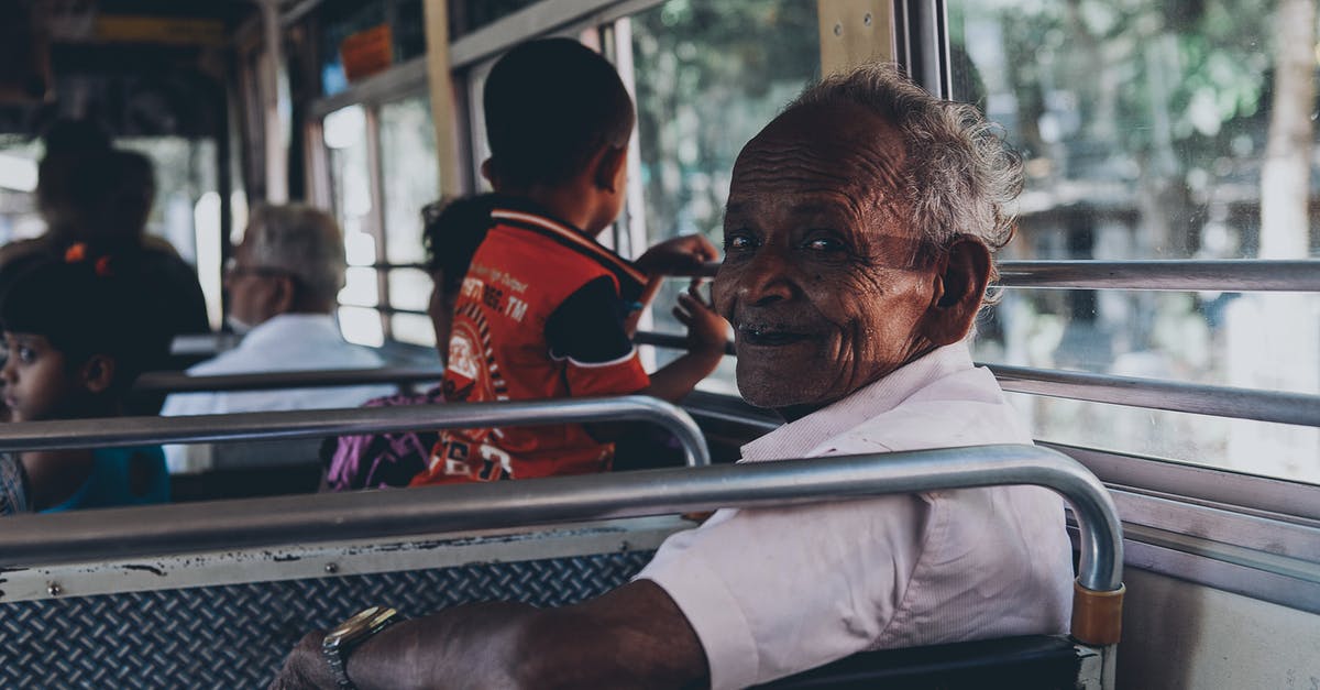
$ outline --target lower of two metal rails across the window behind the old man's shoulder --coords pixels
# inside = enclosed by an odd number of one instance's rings
[[[639,345],[673,349],[688,348],[685,337],[671,333],[640,332],[634,340]],[[737,354],[733,342],[727,345],[725,353],[730,356]],[[1155,378],[1059,371],[999,364],[978,362],[978,365],[989,367],[995,378],[999,379],[1003,390],[1011,393],[1030,393],[1072,401],[1122,404],[1146,410],[1168,410],[1172,412],[1212,415],[1228,419],[1254,419],[1257,422],[1320,427],[1320,395],[1307,393],[1177,383]]]

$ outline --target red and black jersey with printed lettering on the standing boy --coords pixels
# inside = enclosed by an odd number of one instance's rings
[[[624,319],[645,275],[586,233],[498,208],[454,307],[445,399],[622,395],[649,385]],[[412,485],[583,475],[614,445],[581,424],[444,431]]]

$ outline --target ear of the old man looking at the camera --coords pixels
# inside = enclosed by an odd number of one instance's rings
[[[972,330],[990,282],[990,250],[981,241],[958,238],[936,260],[935,291],[921,329],[935,345],[958,342]]]

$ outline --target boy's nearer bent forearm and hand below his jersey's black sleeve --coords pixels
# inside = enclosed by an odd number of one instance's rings
[[[643,395],[676,403],[710,375],[725,356],[729,324],[701,296],[700,286],[701,280],[693,280],[673,308],[673,316],[688,326],[688,353],[651,374],[651,385],[639,391]]]

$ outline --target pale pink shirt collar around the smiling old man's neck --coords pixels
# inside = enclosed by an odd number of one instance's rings
[[[743,445],[742,461],[803,457],[821,443],[898,407],[909,395],[932,382],[973,366],[966,342],[936,348],[875,383],[853,391],[842,401]]]

